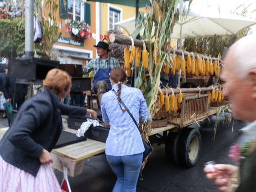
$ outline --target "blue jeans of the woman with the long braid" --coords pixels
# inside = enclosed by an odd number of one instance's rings
[[[113,192],[136,191],[143,154],[106,156],[109,166],[117,176]]]

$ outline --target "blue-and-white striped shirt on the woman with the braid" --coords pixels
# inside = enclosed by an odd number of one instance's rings
[[[117,84],[113,88],[117,92]],[[121,99],[139,123],[139,115],[145,120],[148,112],[146,100],[142,92],[134,87],[122,84]],[[124,109],[123,105],[121,104]],[[145,150],[140,132],[127,111],[119,107],[117,96],[113,91],[103,94],[101,100],[103,122],[110,124],[106,141],[106,155],[125,156],[143,153]],[[147,122],[150,121],[148,114]]]

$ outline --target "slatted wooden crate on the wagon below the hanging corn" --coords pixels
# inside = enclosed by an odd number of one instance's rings
[[[168,123],[179,125],[182,128],[206,118],[209,111],[208,97],[208,94],[184,95],[178,112],[169,113]]]

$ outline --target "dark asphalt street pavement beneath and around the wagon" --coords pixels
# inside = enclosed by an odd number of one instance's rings
[[[7,119],[2,119],[0,113],[0,128],[8,125]],[[198,163],[187,169],[181,165],[167,161],[164,145],[153,145],[154,152],[150,156],[142,178],[138,181],[138,192],[217,192],[213,181],[207,180],[202,169],[204,163],[214,160],[216,163],[231,163],[228,150],[240,138],[238,130],[246,125],[241,121],[224,122],[222,116],[214,137],[215,116],[210,117],[211,123],[201,124],[199,129],[202,136],[202,152]],[[197,127],[197,124],[192,125]],[[61,182],[63,174],[55,170],[57,179]],[[83,173],[76,177],[68,177],[73,192],[98,192],[111,191],[115,185],[115,174],[111,171],[106,161],[105,154],[85,159]]]

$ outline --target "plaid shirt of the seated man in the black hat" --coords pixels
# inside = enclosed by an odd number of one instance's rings
[[[115,68],[120,67],[118,61],[115,58],[108,57],[108,59],[103,62],[101,58],[92,59],[87,66],[83,67],[83,74],[89,74],[93,70],[93,77],[98,72],[99,69]]]

